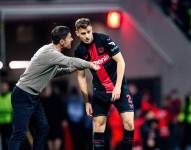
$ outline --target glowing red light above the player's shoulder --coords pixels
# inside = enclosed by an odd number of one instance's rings
[[[119,28],[121,25],[121,14],[117,11],[111,11],[107,15],[107,25],[110,28]]]

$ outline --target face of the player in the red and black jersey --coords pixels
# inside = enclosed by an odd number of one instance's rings
[[[78,31],[76,31],[76,35],[82,42],[90,44],[93,41],[92,26],[87,26],[85,29],[80,28]]]

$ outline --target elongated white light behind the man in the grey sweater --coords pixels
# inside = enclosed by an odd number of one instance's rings
[[[30,61],[11,61],[9,68],[11,69],[24,69],[29,65]]]

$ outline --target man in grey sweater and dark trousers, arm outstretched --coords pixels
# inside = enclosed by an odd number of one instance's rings
[[[99,66],[93,62],[67,57],[61,53],[71,48],[73,39],[68,27],[56,26],[51,35],[52,43],[42,46],[34,54],[13,90],[13,132],[9,141],[9,150],[19,150],[32,115],[34,116],[32,124],[35,128],[33,149],[44,149],[48,122],[39,94],[53,77],[77,69],[99,69]]]

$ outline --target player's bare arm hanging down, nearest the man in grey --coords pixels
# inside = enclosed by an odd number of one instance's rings
[[[88,116],[92,117],[93,109],[92,109],[92,105],[89,103],[89,99],[88,99],[88,86],[87,86],[85,71],[78,70],[77,78],[78,78],[80,90],[82,92],[82,96],[84,98],[84,102],[86,103],[86,113]]]

